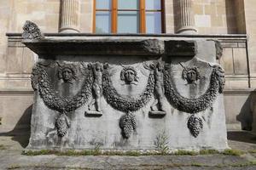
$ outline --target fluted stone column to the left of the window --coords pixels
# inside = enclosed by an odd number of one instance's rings
[[[61,0],[60,32],[79,32],[79,0]]]

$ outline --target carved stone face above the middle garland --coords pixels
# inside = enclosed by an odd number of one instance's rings
[[[133,67],[125,67],[120,74],[121,80],[125,81],[126,84],[131,84],[132,82],[137,82],[137,72]]]

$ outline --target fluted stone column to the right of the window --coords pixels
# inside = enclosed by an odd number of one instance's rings
[[[192,13],[192,0],[179,0],[180,28],[177,33],[196,34],[194,14]]]

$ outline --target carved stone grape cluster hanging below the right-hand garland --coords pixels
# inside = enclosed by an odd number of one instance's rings
[[[188,128],[190,133],[196,138],[203,127],[203,123],[200,117],[193,114],[189,117]]]

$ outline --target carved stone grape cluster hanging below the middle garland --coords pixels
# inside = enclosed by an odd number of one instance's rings
[[[135,116],[128,112],[124,116],[121,116],[119,126],[122,129],[122,134],[125,139],[129,139],[133,130],[136,130]]]

